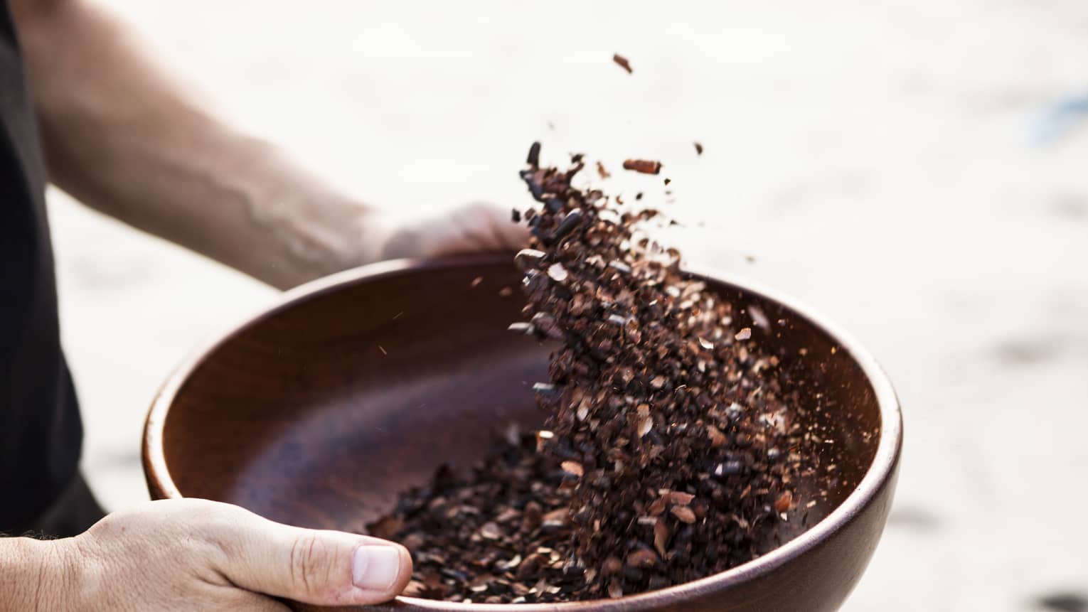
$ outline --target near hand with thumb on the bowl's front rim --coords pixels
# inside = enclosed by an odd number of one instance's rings
[[[302,529],[199,499],[152,501],[55,540],[71,585],[51,610],[272,611],[387,601],[411,577],[404,547]],[[40,592],[40,591],[39,591]]]

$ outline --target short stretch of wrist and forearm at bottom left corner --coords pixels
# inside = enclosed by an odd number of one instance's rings
[[[66,544],[0,537],[0,610],[63,610],[76,590]]]

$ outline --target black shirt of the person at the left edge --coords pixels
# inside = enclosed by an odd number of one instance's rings
[[[0,0],[0,532],[75,476],[83,429],[57,323],[46,173],[15,27]]]

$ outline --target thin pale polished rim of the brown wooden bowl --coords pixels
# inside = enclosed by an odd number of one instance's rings
[[[163,427],[165,426],[170,405],[193,372],[214,353],[215,350],[231,341],[238,334],[292,305],[335,291],[347,285],[396,276],[405,272],[495,264],[505,261],[510,261],[512,264],[511,255],[512,253],[507,252],[492,252],[443,258],[397,259],[346,270],[289,289],[272,304],[258,310],[256,314],[246,317],[242,323],[228,327],[225,333],[213,336],[213,340],[198,347],[197,350],[193,351],[170,374],[151,402],[151,408],[148,411],[147,421],[144,426],[141,449],[144,473],[150,492],[153,496],[166,499],[183,497],[170,475],[162,445]],[[511,607],[516,607],[517,610],[524,612],[566,612],[585,610],[588,605],[592,605],[594,610],[608,612],[650,610],[662,604],[690,600],[706,592],[733,587],[768,574],[790,560],[800,557],[805,551],[826,541],[833,533],[851,523],[873,502],[877,494],[894,473],[903,445],[903,417],[899,398],[892,388],[891,380],[876,359],[851,334],[823,314],[793,298],[776,290],[767,289],[758,283],[753,283],[741,275],[715,272],[705,265],[684,265],[684,271],[696,276],[731,285],[792,310],[832,338],[838,345],[839,350],[846,351],[862,369],[866,379],[873,387],[877,400],[880,413],[880,437],[877,442],[876,453],[873,457],[873,463],[854,490],[830,514],[782,546],[725,572],[719,572],[682,585],[639,595],[623,596],[618,599],[594,599],[560,603],[460,603],[407,596],[399,596],[391,603],[397,607],[410,605],[416,609],[435,611],[471,610],[480,612],[509,612]]]

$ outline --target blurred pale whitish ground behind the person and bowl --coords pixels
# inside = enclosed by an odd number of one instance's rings
[[[844,610],[1088,597],[1088,129],[1033,140],[1088,90],[1088,4],[109,3],[374,202],[524,202],[536,138],[662,158],[707,222],[693,259],[829,314],[897,385],[897,501]],[[147,496],[157,386],[275,293],[61,193],[51,212],[84,465],[119,508]]]

